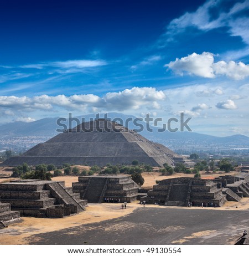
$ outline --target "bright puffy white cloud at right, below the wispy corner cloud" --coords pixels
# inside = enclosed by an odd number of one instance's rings
[[[230,61],[229,63],[214,63],[214,54],[203,52],[202,54],[190,54],[174,62],[166,64],[174,73],[183,75],[184,72],[190,75],[197,75],[203,78],[215,78],[217,75],[225,75],[230,79],[241,80],[249,76],[249,65],[242,62]],[[219,90],[216,94],[219,94]]]

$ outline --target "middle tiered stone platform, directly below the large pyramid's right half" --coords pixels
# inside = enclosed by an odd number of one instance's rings
[[[89,203],[132,202],[137,199],[139,186],[128,176],[82,176],[72,183],[72,191],[80,193]]]

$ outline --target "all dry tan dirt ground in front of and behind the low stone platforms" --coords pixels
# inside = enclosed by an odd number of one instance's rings
[[[0,173],[7,172],[7,170],[0,169]],[[230,173],[229,173],[230,174]],[[231,173],[232,174],[232,173]],[[220,173],[207,174],[203,173],[202,177],[213,178],[220,176]],[[159,172],[148,172],[143,173],[144,185],[143,187],[152,187],[155,185],[155,181],[164,180],[165,178],[175,178],[175,177],[193,177],[194,175],[184,175],[183,173],[177,173],[172,176],[161,176]],[[10,179],[0,179],[0,182],[9,181]],[[66,186],[71,186],[72,182],[77,182],[76,176],[60,176],[55,177],[53,180],[65,181]],[[128,204],[127,209],[121,209],[120,204],[89,204],[85,212],[81,212],[74,216],[59,218],[59,219],[49,219],[49,218],[33,218],[33,217],[22,217],[22,221],[18,223],[10,223],[8,228],[0,230],[0,244],[27,244],[27,240],[37,234],[45,234],[48,232],[61,231],[66,228],[73,228],[80,226],[82,224],[99,223],[102,221],[113,220],[128,216],[133,214],[133,212],[141,208],[141,204],[138,201]],[[195,209],[201,209],[201,207],[164,207],[157,205],[147,205],[146,208],[184,208],[187,211],[193,211]],[[226,202],[223,207],[220,208],[206,208],[215,211],[243,211],[249,210],[249,198],[242,198],[240,202]],[[179,241],[177,241],[179,242]]]

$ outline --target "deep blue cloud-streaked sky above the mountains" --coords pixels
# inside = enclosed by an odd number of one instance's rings
[[[249,0],[0,5],[1,124],[184,112],[195,132],[249,136]]]

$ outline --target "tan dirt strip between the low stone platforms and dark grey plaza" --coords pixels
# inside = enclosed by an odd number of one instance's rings
[[[236,208],[237,206],[237,208]],[[142,208],[138,201],[129,203],[126,209],[121,209],[120,204],[93,204],[90,203],[86,208],[86,211],[76,214],[70,217],[64,217],[59,219],[49,218],[33,218],[33,217],[22,217],[22,221],[18,223],[10,223],[8,228],[0,230],[0,244],[27,244],[27,240],[34,237],[34,235],[42,235],[49,232],[61,231],[67,228],[74,228],[81,226],[82,224],[94,224],[103,221],[112,220],[115,224],[115,219],[128,216],[132,214],[136,209]],[[158,209],[183,209],[188,211],[202,209],[201,207],[173,207],[173,206],[157,206],[157,205],[146,205],[148,208]],[[213,211],[243,211],[249,209],[249,198],[242,198],[240,202],[227,202],[224,207],[220,208],[206,208],[204,210]],[[34,243],[34,239],[32,238]],[[178,241],[179,242],[179,241]]]

